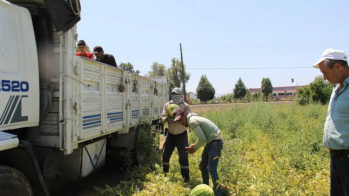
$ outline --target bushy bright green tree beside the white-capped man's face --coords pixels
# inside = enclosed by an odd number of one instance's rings
[[[333,90],[333,84],[322,79],[322,76],[316,76],[308,86],[298,87],[296,89],[297,102],[300,105],[306,105],[311,102],[327,104]]]

